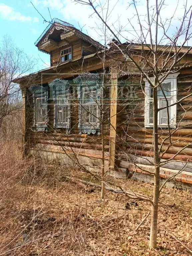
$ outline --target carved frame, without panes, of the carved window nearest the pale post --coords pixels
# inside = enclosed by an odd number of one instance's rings
[[[100,99],[101,99],[101,84],[99,80],[98,74],[92,74],[92,73],[84,73],[80,75],[78,78],[75,78],[73,80],[74,82],[77,82],[77,94],[78,94],[78,102],[79,102],[79,123],[78,123],[78,129],[79,134],[97,134],[100,135]],[[91,92],[91,90],[97,91],[95,104],[97,106],[97,111],[95,113],[96,122],[83,122],[83,112],[84,112],[84,94],[85,89],[88,89],[88,91]]]

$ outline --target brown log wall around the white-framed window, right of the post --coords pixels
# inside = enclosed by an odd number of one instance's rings
[[[189,79],[189,78],[188,78]],[[183,80],[183,76],[178,77],[178,93],[177,99],[180,100],[183,97],[192,93],[192,83]],[[119,117],[118,128],[119,141],[122,144],[122,148],[119,149],[119,155],[122,153],[133,154],[137,156],[153,156],[153,129],[145,128],[144,126],[144,94],[140,89],[136,89],[138,98],[125,99],[124,103],[119,104]],[[127,101],[127,102],[126,102]],[[179,128],[179,129],[177,129]],[[173,132],[171,136],[172,145],[163,154],[163,151],[167,149],[169,145],[169,139],[163,143],[161,156],[163,159],[168,159],[177,154],[183,147],[183,149],[175,160],[192,161],[192,97],[184,99],[177,106],[177,128],[172,128]],[[162,140],[167,136],[168,129],[159,128],[159,145]],[[121,134],[121,135],[120,135]]]

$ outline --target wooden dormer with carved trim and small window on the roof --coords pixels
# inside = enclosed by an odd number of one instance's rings
[[[104,48],[73,25],[56,18],[50,22],[35,45],[39,51],[50,54],[51,66],[78,60]]]

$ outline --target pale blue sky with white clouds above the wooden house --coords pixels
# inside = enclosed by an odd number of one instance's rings
[[[90,35],[97,41],[103,42],[105,39],[102,23],[93,14],[90,7],[74,3],[73,0],[31,1],[39,13],[48,21],[51,18],[59,18],[73,24],[78,29],[82,29],[84,33]],[[184,1],[179,0],[177,11],[174,12],[177,1],[165,0],[166,5],[162,10],[162,21],[166,21],[168,17],[173,16],[169,34],[173,34],[178,27],[178,17],[183,13]],[[115,33],[118,35],[121,30],[121,39],[123,41],[134,39],[135,31],[133,30],[139,31],[139,25],[134,16],[134,6],[129,6],[126,0],[110,0],[109,6],[105,5],[105,0],[100,0],[99,2],[104,6],[103,12],[100,12],[100,14],[103,17],[106,17],[107,14],[108,24],[113,28]],[[151,5],[154,4],[154,0],[149,2]],[[136,5],[141,15],[141,23],[145,26],[146,0],[137,0]],[[100,10],[99,7],[98,10]],[[152,6],[151,13],[153,11],[154,8]],[[38,69],[43,69],[49,67],[50,56],[38,51],[34,43],[47,27],[48,23],[43,23],[43,18],[39,13],[32,6],[30,0],[0,0],[0,41],[4,35],[9,35],[14,44],[22,48],[26,54],[38,58]],[[111,39],[113,36],[107,33],[107,37]],[[161,33],[159,33],[159,38],[161,38]]]

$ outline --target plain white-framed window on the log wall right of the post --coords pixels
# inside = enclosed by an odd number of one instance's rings
[[[161,109],[158,112],[158,126],[168,126],[168,113],[169,113],[169,125],[170,127],[176,126],[177,116],[177,104],[168,108],[168,105],[172,105],[177,102],[177,76],[179,73],[169,75],[157,88],[157,100],[158,108]],[[153,81],[153,78],[151,79]],[[149,82],[145,81],[145,127],[153,127],[153,88],[151,88]]]

